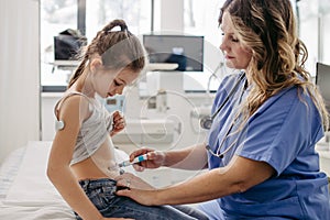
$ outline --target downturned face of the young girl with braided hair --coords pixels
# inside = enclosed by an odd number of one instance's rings
[[[98,78],[95,81],[95,90],[102,98],[121,95],[124,87],[130,85],[138,78],[139,73],[129,69],[116,70],[100,70]]]

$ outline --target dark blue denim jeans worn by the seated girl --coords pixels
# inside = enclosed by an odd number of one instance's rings
[[[79,182],[81,188],[103,217],[133,218],[136,220],[202,220],[208,219],[201,211],[187,206],[147,207],[116,195],[113,179],[87,179]],[[76,219],[81,218],[76,213]]]

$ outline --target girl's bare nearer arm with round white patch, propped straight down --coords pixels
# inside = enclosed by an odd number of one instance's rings
[[[82,219],[95,220],[102,216],[86,196],[69,167],[80,125],[88,116],[88,101],[80,96],[69,97],[63,102],[58,118],[64,121],[65,127],[56,132],[53,141],[47,175],[62,197]]]

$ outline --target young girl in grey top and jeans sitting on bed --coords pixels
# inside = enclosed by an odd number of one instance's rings
[[[118,26],[120,31],[114,31]],[[57,132],[47,175],[77,219],[205,218],[186,207],[145,207],[116,195],[114,178],[120,168],[110,136],[124,128],[124,120],[119,112],[108,113],[99,98],[121,95],[144,65],[145,54],[139,38],[124,21],[114,20],[87,47],[67,91],[55,106]]]

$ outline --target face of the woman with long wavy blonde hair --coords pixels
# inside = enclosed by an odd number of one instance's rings
[[[226,65],[230,68],[246,69],[252,57],[252,51],[240,43],[228,12],[223,13],[221,30],[223,38],[220,50],[223,52]]]

